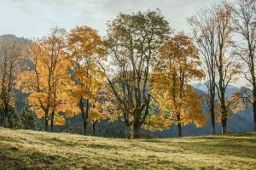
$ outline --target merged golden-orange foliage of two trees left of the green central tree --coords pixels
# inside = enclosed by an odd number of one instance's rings
[[[30,66],[20,72],[15,87],[29,94],[28,103],[38,116],[54,111],[55,124],[65,122],[60,113],[67,117],[79,114],[81,97],[95,101],[102,85],[97,62],[105,53],[96,31],[81,26],[73,29],[67,39],[66,36],[65,30],[54,28],[49,36],[30,42],[26,58]],[[91,115],[98,117],[96,111]]]

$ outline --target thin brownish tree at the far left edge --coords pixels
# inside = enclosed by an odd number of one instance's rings
[[[9,111],[15,105],[14,88],[20,70],[22,48],[15,41],[2,45],[0,54],[0,106],[3,110],[3,126],[9,127]]]

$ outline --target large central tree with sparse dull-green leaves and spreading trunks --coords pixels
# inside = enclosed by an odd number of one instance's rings
[[[127,138],[140,138],[151,100],[148,74],[155,54],[170,28],[160,11],[119,14],[108,24],[111,68],[105,69],[108,87],[122,112]]]

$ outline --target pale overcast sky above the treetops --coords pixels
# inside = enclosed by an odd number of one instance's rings
[[[41,37],[53,26],[90,26],[104,36],[106,22],[120,12],[160,8],[170,26],[188,31],[186,19],[215,0],[0,0],[0,35]]]

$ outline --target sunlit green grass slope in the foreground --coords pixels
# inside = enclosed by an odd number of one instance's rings
[[[256,134],[126,140],[0,128],[0,169],[256,169]]]

